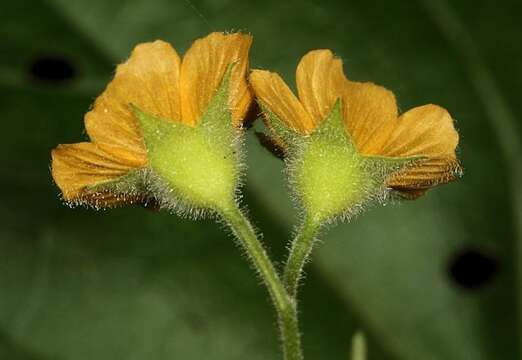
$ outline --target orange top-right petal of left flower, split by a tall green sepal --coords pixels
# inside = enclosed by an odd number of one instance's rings
[[[246,82],[248,51],[252,37],[245,34],[212,33],[196,40],[183,57],[181,66],[181,109],[183,122],[195,125],[219,88],[230,64],[229,106],[238,124],[252,101]]]

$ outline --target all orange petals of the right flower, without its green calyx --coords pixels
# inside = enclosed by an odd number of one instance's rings
[[[402,196],[416,198],[459,174],[459,137],[445,109],[424,105],[399,116],[392,92],[346,79],[341,60],[330,50],[306,54],[297,67],[296,82],[298,98],[278,74],[254,70],[250,75],[261,105],[303,136],[313,133],[340,99],[345,130],[360,154],[419,157],[386,180],[386,186]]]

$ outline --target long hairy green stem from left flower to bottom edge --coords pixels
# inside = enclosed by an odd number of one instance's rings
[[[263,279],[277,311],[285,360],[303,360],[295,301],[288,296],[274,265],[245,217],[236,206],[221,211]]]

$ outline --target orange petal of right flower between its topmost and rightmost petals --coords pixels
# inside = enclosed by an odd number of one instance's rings
[[[343,104],[344,122],[359,152],[381,154],[398,116],[393,93],[373,83],[347,81]]]

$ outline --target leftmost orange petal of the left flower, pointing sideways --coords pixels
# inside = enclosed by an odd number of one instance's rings
[[[95,202],[114,202],[116,195],[87,194],[85,190],[114,181],[142,164],[143,159],[132,151],[111,145],[84,142],[59,145],[52,151],[52,176],[66,201],[83,201],[85,195]]]

